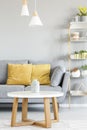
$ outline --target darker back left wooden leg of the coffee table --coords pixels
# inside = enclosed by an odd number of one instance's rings
[[[28,98],[24,98],[22,102],[22,121],[27,120]]]

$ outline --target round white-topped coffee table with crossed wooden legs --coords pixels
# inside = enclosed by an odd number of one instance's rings
[[[12,108],[12,118],[11,118],[11,126],[25,126],[25,125],[36,125],[45,128],[50,128],[52,122],[59,121],[58,115],[58,105],[56,97],[63,96],[62,92],[56,91],[40,91],[39,93],[32,93],[30,91],[20,91],[20,92],[9,92],[9,97],[14,98],[13,108]],[[16,114],[18,108],[18,99],[22,98],[22,121],[17,123],[16,122]],[[44,121],[34,121],[31,119],[27,119],[27,112],[28,112],[28,99],[29,98],[43,98],[44,99],[44,114],[45,120]],[[50,115],[50,101],[49,99],[52,98],[52,105],[53,105],[53,112],[54,112],[54,119],[51,119]]]

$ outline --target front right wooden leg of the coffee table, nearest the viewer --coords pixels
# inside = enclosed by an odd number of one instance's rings
[[[44,113],[45,113],[45,127],[51,127],[51,116],[50,116],[50,101],[48,98],[44,98]]]

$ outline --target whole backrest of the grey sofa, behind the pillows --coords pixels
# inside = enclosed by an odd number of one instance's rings
[[[0,84],[5,84],[7,81],[8,64],[51,64],[51,74],[57,66],[64,66],[63,60],[54,61],[32,61],[32,60],[0,60]]]

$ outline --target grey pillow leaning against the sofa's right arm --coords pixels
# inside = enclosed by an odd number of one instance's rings
[[[63,74],[65,73],[65,68],[63,67],[56,67],[51,76],[51,85],[58,86],[62,80]]]

